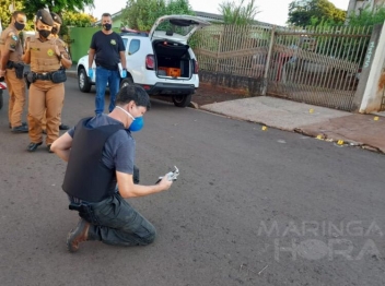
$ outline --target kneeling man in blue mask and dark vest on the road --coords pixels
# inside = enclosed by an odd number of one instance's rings
[[[109,115],[82,119],[52,143],[51,151],[68,162],[62,189],[69,207],[81,216],[67,238],[70,252],[86,240],[114,246],[145,246],[154,240],[154,226],[124,200],[172,184],[167,176],[153,186],[133,183],[136,144],[130,129],[138,130],[135,122],[149,108],[149,95],[141,86],[125,86]]]

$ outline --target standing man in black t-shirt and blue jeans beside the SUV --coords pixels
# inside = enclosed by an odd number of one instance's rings
[[[104,13],[102,15],[102,31],[96,32],[92,36],[90,51],[89,51],[89,75],[93,78],[92,63],[95,59],[96,63],[96,98],[95,98],[95,114],[100,115],[104,111],[104,96],[106,86],[109,87],[109,107],[108,111],[115,108],[116,94],[119,91],[120,73],[118,63],[121,62],[122,76],[126,72],[126,55],[125,44],[119,34],[112,31],[113,20],[110,14]]]

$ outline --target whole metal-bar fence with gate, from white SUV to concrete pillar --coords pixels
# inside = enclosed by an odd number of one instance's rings
[[[211,25],[197,33],[200,68],[260,79],[260,94],[351,110],[372,27]]]

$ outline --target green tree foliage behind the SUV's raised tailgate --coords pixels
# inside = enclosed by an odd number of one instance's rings
[[[171,14],[194,15],[188,0],[127,0],[122,23],[138,31],[150,31],[158,17]]]

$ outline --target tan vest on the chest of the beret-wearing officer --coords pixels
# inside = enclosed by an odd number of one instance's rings
[[[44,73],[59,70],[61,63],[55,52],[55,45],[58,44],[61,45],[56,38],[42,41],[38,37],[31,37],[31,71]]]

